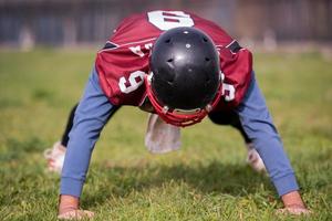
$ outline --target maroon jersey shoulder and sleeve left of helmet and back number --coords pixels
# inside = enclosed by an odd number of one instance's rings
[[[160,31],[147,22],[146,14],[125,19],[96,56],[103,92],[113,105],[138,106],[145,97],[144,75],[148,57]]]

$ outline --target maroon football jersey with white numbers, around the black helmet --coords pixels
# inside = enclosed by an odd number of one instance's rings
[[[216,109],[235,107],[241,102],[251,78],[251,53],[211,21],[185,11],[158,10],[125,19],[97,53],[100,84],[113,105],[143,104],[151,49],[164,31],[177,27],[204,31],[219,52],[224,84],[222,98]]]

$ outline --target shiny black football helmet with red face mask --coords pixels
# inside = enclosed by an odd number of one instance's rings
[[[147,95],[167,123],[200,122],[221,92],[219,56],[212,40],[195,28],[170,29],[156,40],[151,55]]]

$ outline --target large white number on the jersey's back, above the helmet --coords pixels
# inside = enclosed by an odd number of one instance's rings
[[[183,11],[151,11],[147,12],[147,17],[152,24],[163,31],[177,27],[194,27],[190,14]]]

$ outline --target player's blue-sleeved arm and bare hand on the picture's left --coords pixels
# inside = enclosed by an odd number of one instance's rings
[[[76,108],[74,123],[61,176],[59,215],[91,214],[79,210],[79,199],[85,181],[92,150],[106,124],[113,106],[98,84],[98,76],[93,70],[86,84],[84,95]]]

